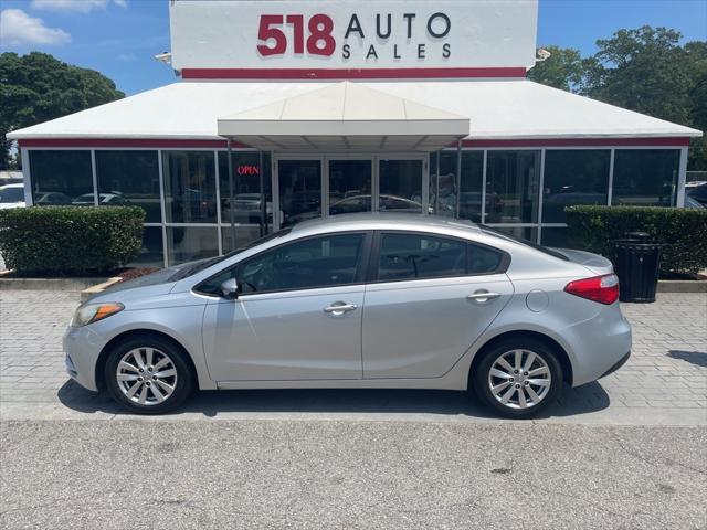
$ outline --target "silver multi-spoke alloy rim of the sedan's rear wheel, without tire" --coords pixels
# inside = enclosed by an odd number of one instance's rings
[[[530,409],[550,391],[550,367],[538,353],[515,349],[496,358],[488,372],[492,395],[509,409]]]

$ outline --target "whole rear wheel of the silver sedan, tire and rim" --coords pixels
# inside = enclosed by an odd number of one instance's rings
[[[557,400],[562,369],[545,343],[505,340],[483,354],[472,382],[478,398],[498,414],[534,417]]]

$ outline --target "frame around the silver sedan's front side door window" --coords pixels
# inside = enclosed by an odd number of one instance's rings
[[[289,240],[286,242],[283,242],[278,245],[275,246],[271,246],[270,248],[265,248],[262,252],[258,252],[257,254],[254,254],[245,259],[242,259],[233,265],[231,265],[230,267],[225,267],[221,271],[219,271],[215,274],[212,274],[211,276],[209,276],[207,279],[199,282],[199,284],[197,284],[194,287],[192,287],[192,292],[201,295],[201,296],[210,296],[210,297],[214,297],[214,298],[223,298],[222,296],[218,296],[218,295],[213,295],[211,293],[205,293],[200,290],[201,286],[204,284],[208,284],[209,282],[211,282],[213,278],[215,278],[217,276],[221,276],[222,274],[225,273],[232,273],[235,272],[235,277],[238,278],[240,269],[244,266],[246,266],[250,262],[252,262],[253,259],[257,259],[260,257],[263,256],[263,254],[266,254],[268,252],[276,252],[277,250],[287,246],[287,245],[292,245],[292,244],[297,244],[297,243],[303,243],[305,241],[309,241],[309,240],[316,240],[316,239],[324,239],[324,237],[334,237],[337,235],[362,235],[362,242],[361,242],[361,252],[359,253],[358,259],[356,262],[356,274],[355,274],[355,280],[352,283],[346,283],[346,284],[335,284],[335,285],[318,285],[318,286],[313,286],[313,287],[295,287],[292,289],[273,289],[273,290],[257,290],[257,292],[253,292],[253,293],[241,293],[239,292],[239,297],[238,299],[247,299],[250,297],[253,296],[258,296],[258,295],[273,295],[273,294],[277,294],[277,293],[295,293],[295,292],[308,292],[308,290],[316,290],[316,289],[328,289],[328,288],[337,288],[337,287],[349,287],[349,286],[356,286],[356,285],[365,285],[366,284],[366,275],[368,272],[368,267],[370,264],[370,254],[371,254],[371,245],[372,245],[372,239],[373,239],[373,231],[370,230],[347,230],[347,231],[342,231],[342,232],[326,232],[326,233],[321,233],[321,234],[314,234],[314,235],[307,235],[304,237],[298,237],[296,240]],[[239,286],[240,289],[240,286]]]

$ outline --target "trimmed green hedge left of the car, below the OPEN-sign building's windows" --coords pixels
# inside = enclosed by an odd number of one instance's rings
[[[139,252],[144,219],[137,206],[0,210],[0,253],[8,268],[23,275],[110,271]]]

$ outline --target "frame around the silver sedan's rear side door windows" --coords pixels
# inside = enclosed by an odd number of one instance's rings
[[[386,234],[395,234],[395,235],[419,235],[423,237],[437,237],[442,240],[452,240],[457,241],[465,244],[466,247],[466,259],[465,259],[465,273],[461,275],[451,275],[451,276],[425,276],[423,278],[394,278],[394,279],[380,279],[379,276],[379,265],[380,265],[380,251],[382,245],[382,236]],[[469,264],[469,248],[472,246],[481,246],[483,248],[487,248],[489,251],[496,252],[500,254],[500,261],[498,262],[498,266],[496,269],[488,273],[469,273],[468,264]],[[366,284],[393,284],[400,282],[424,282],[428,279],[449,279],[449,278],[466,278],[466,277],[476,277],[476,276],[490,276],[494,274],[505,274],[510,266],[510,254],[506,251],[497,248],[495,246],[490,246],[484,243],[479,243],[477,241],[468,240],[465,237],[460,237],[455,235],[447,234],[439,234],[436,232],[424,232],[424,231],[414,231],[414,230],[377,230],[373,233],[372,246],[370,252],[370,259],[368,263],[367,271],[367,279]]]

